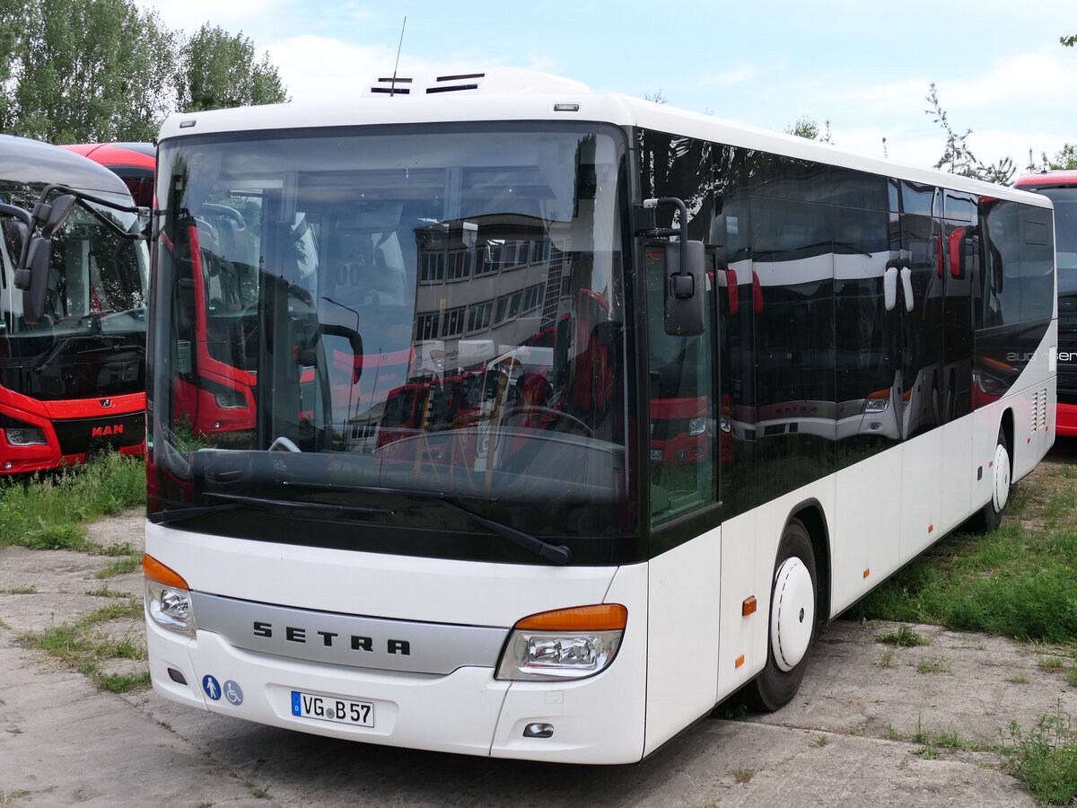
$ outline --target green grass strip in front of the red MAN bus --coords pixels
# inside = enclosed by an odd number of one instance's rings
[[[0,482],[0,547],[100,553],[86,541],[83,524],[144,503],[142,458],[104,455],[84,466],[5,479]],[[104,552],[122,554],[122,546]]]

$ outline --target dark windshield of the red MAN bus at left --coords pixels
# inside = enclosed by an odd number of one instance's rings
[[[40,189],[0,183],[0,200],[32,210]],[[98,193],[129,206],[130,199]],[[3,261],[14,267],[23,235],[4,225]],[[110,226],[111,224],[111,226]],[[81,200],[52,240],[45,314],[30,324],[23,293],[0,288],[0,384],[39,400],[140,393],[145,386],[145,297],[149,256],[132,212]]]

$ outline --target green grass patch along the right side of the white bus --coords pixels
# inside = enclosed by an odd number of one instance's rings
[[[850,617],[1077,642],[1077,486],[1071,483],[1077,471],[1066,466],[1045,476],[1047,485],[1015,488],[1001,530],[948,537]]]

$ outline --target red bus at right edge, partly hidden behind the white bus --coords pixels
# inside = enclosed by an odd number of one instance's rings
[[[1057,430],[1060,436],[1077,437],[1077,170],[1027,173],[1013,186],[1043,194],[1054,204],[1059,265]]]

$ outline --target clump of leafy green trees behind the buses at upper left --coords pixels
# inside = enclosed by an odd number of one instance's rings
[[[144,141],[177,109],[283,100],[242,34],[206,25],[187,40],[135,0],[0,0],[2,133]]]

